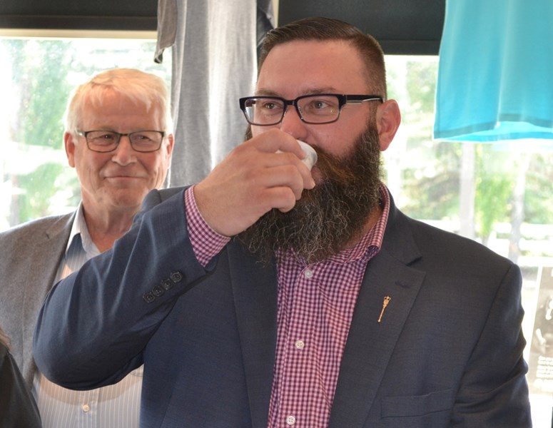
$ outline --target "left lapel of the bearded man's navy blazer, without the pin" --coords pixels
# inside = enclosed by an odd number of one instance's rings
[[[264,266],[238,244],[228,245],[238,333],[252,426],[266,428],[276,346],[277,280],[274,264]]]

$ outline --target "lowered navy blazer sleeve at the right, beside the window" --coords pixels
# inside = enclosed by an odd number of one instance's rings
[[[465,367],[452,427],[532,427],[522,357],[521,283],[519,267],[511,264]]]

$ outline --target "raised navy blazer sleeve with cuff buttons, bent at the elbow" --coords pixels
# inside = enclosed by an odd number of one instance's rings
[[[149,194],[131,230],[46,297],[33,352],[53,382],[72,389],[118,382],[143,363],[176,299],[206,275],[188,239],[183,190],[162,199]]]

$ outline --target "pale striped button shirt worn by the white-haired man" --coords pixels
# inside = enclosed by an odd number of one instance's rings
[[[78,207],[64,259],[55,282],[77,270],[100,252],[91,240],[84,220],[82,204]],[[133,428],[139,425],[143,366],[133,370],[121,382],[73,391],[50,382],[38,370],[33,393],[39,405],[44,428]]]

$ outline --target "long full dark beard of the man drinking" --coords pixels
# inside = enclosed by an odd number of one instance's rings
[[[362,232],[379,204],[380,143],[374,125],[367,127],[344,158],[315,150],[323,181],[313,190],[303,190],[288,213],[270,210],[238,235],[265,263],[276,250],[291,250],[306,263],[339,253]]]

